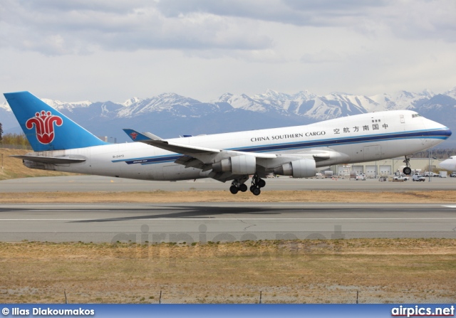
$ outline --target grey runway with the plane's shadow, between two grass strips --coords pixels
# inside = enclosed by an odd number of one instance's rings
[[[0,240],[192,243],[294,238],[456,238],[456,205],[9,204]]]

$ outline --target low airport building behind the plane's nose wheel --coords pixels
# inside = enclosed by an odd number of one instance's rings
[[[321,169],[322,172],[331,170],[335,176],[348,176],[350,177],[350,171],[356,171],[356,173],[366,174],[366,178],[379,178],[380,176],[391,176],[393,174],[402,174],[402,169],[405,167],[404,157],[394,159],[383,159],[378,161],[363,162],[360,164],[338,164],[336,166],[330,166],[326,169]],[[445,159],[434,159],[434,158],[410,158],[410,168],[413,172],[424,173],[425,171],[437,172],[441,169],[439,164]]]

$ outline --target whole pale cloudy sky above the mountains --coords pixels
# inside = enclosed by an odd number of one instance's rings
[[[209,101],[455,86],[455,0],[0,2],[1,92]]]

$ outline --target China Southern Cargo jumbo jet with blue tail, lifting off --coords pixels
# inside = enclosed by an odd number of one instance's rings
[[[30,92],[4,96],[33,148],[14,156],[28,168],[144,180],[212,178],[232,181],[232,194],[247,191],[250,176],[249,189],[258,196],[269,173],[307,178],[322,166],[400,156],[405,157],[404,174],[410,174],[411,154],[452,134],[417,112],[393,110],[296,127],[173,139],[124,129],[132,142],[109,144]]]

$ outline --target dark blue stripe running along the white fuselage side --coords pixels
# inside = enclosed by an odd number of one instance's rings
[[[227,150],[235,150],[239,152],[271,152],[274,150],[290,150],[304,149],[311,147],[327,147],[338,146],[341,144],[360,144],[363,142],[379,142],[395,139],[447,139],[451,136],[450,129],[426,129],[414,130],[410,132],[390,133],[390,134],[369,134],[361,137],[343,137],[331,139],[318,139],[309,142],[289,142],[284,144],[265,144],[264,146],[248,146],[240,148],[231,148]],[[157,157],[141,157],[132,159],[113,160],[112,162],[125,162],[126,164],[159,164],[165,162],[173,162],[182,157],[182,155],[167,155]]]

